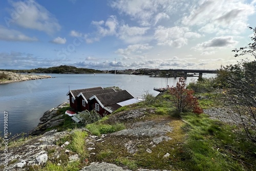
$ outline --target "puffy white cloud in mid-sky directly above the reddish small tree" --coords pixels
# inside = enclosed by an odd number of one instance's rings
[[[187,38],[197,38],[201,35],[195,32],[191,32],[187,27],[171,27],[165,28],[158,26],[155,30],[155,38],[158,41],[158,45],[168,45],[176,48],[181,48],[187,44]]]

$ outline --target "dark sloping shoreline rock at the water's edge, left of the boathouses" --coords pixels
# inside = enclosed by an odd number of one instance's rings
[[[40,135],[44,134],[47,129],[51,127],[56,127],[63,123],[63,115],[58,115],[58,109],[61,109],[67,106],[67,102],[64,102],[57,106],[57,108],[52,108],[44,113],[42,117],[39,119],[37,127],[35,127],[32,131],[29,132],[29,135]]]

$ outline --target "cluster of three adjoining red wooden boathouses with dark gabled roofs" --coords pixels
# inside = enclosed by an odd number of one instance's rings
[[[114,89],[103,89],[102,87],[70,90],[67,93],[68,95],[70,106],[73,110],[78,112],[95,110],[101,116],[111,114],[121,106],[140,101],[126,90],[115,91]]]

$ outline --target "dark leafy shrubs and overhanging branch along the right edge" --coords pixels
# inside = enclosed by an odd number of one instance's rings
[[[248,47],[234,49],[237,56],[250,54],[256,58],[256,27],[252,29],[253,41]],[[226,98],[223,101],[237,113],[234,119],[243,124],[246,135],[256,142],[256,60],[242,60],[235,65],[220,69],[217,81],[221,88],[225,88]]]

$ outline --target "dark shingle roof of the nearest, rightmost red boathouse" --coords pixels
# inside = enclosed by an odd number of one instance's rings
[[[96,95],[104,106],[109,106],[121,101],[133,99],[134,97],[126,90]]]

